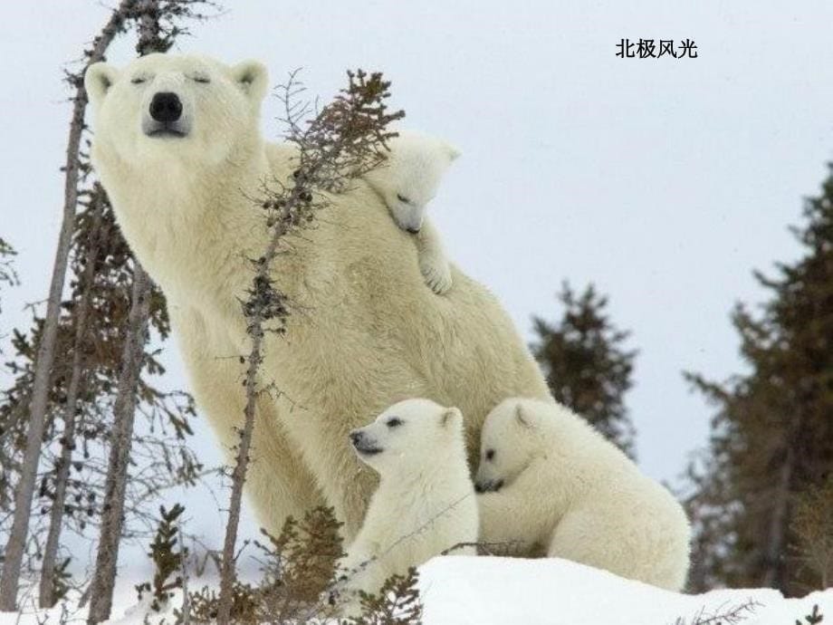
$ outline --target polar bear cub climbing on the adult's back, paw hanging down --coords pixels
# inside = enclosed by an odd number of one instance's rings
[[[414,130],[399,130],[388,140],[388,159],[364,178],[385,201],[397,226],[415,235],[419,270],[431,289],[442,295],[451,288],[451,269],[442,239],[426,219],[445,171],[460,152],[443,139]]]

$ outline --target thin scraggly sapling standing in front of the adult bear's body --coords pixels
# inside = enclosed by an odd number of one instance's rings
[[[243,303],[246,332],[252,338],[252,350],[246,359],[244,426],[240,432],[229,519],[223,544],[223,569],[220,576],[220,598],[217,622],[230,620],[235,588],[235,543],[240,523],[243,487],[249,463],[249,450],[254,432],[254,408],[260,393],[258,374],[263,362],[265,332],[283,334],[289,315],[287,298],[275,289],[271,269],[285,236],[309,225],[315,212],[326,206],[321,190],[343,191],[350,178],[360,176],[384,159],[383,149],[393,136],[388,124],[404,113],[387,112],[389,82],[380,73],[348,72],[349,85],[303,127],[309,111],[295,98],[300,84],[295,74],[283,85],[283,102],[288,126],[287,139],[298,147],[298,168],[289,181],[274,181],[276,189],[263,202],[266,225],[271,230],[269,244],[260,258],[253,259],[254,281],[249,297]],[[273,323],[267,328],[267,324]]]

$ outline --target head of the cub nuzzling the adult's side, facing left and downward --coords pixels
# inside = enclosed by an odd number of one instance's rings
[[[512,484],[536,457],[546,455],[541,410],[534,399],[505,399],[484,421],[474,487],[479,493]]]

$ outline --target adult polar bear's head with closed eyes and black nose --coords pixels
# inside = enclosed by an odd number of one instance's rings
[[[260,145],[268,77],[203,56],[148,54],[121,69],[93,63],[84,86],[95,113],[97,167],[193,169],[239,160]]]

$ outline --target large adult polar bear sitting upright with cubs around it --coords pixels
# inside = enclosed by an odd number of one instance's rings
[[[130,247],[168,298],[197,405],[226,449],[242,421],[249,340],[240,300],[248,258],[267,231],[253,198],[286,180],[293,150],[266,143],[267,74],[198,56],[149,54],[119,70],[91,65],[92,159]],[[247,491],[270,531],[324,495],[359,529],[375,486],[348,433],[400,399],[462,409],[476,454],[501,399],[548,397],[541,372],[495,298],[453,270],[443,297],[426,287],[416,245],[378,195],[357,181],[331,197],[316,227],[274,264],[299,312],[286,338],[267,336]],[[316,489],[315,486],[318,486]]]

